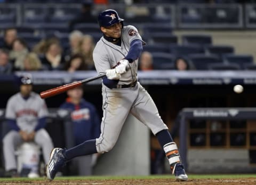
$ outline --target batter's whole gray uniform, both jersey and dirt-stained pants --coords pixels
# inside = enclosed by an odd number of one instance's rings
[[[98,73],[105,73],[107,69],[114,68],[117,62],[127,55],[134,39],[142,40],[133,26],[122,29],[121,39],[121,46],[110,43],[103,37],[98,41],[93,51],[93,61]],[[130,64],[130,69],[121,75],[118,84],[127,85],[136,81],[137,70],[138,60]],[[129,113],[147,125],[154,134],[168,129],[159,116],[153,99],[139,82],[134,87],[121,89],[109,89],[102,85],[102,97],[101,134],[96,139],[98,153],[108,152],[114,147]]]

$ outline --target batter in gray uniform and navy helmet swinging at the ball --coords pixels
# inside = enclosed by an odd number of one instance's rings
[[[100,137],[84,141],[68,150],[54,148],[46,167],[50,180],[71,158],[109,152],[116,144],[129,113],[155,134],[176,179],[188,180],[177,145],[159,116],[155,103],[138,82],[138,57],[145,43],[138,30],[134,26],[124,27],[123,21],[115,10],[103,11],[98,16],[103,37],[94,48],[93,61],[97,72],[106,73],[107,76],[102,79],[103,118]]]

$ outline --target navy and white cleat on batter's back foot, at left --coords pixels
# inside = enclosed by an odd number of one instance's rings
[[[67,160],[65,159],[63,152],[65,152],[65,150],[62,148],[52,149],[50,160],[46,165],[47,179],[53,180],[60,168],[66,164]]]

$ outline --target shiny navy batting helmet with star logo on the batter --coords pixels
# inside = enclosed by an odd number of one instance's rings
[[[119,18],[115,10],[105,10],[98,16],[98,22],[100,27],[108,27],[117,22],[122,22],[124,19]]]

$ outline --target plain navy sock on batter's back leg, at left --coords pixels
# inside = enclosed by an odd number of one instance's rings
[[[90,155],[95,153],[98,153],[96,149],[96,140],[92,139],[84,141],[82,144],[66,150],[64,156],[67,158],[67,160],[70,160],[74,157]]]

